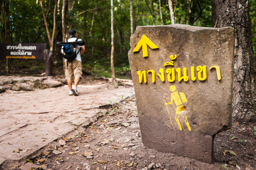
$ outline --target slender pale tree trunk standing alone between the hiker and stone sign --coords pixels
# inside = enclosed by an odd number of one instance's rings
[[[116,77],[115,77],[115,67],[114,67],[114,8],[113,8],[113,0],[111,0],[111,71],[112,71],[112,81],[116,85]]]

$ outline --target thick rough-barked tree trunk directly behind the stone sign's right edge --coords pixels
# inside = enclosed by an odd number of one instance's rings
[[[212,0],[212,3],[215,7],[212,15],[216,18],[212,23],[217,28],[233,27],[236,32],[233,118],[239,122],[254,122],[256,121],[256,71],[248,1]]]

